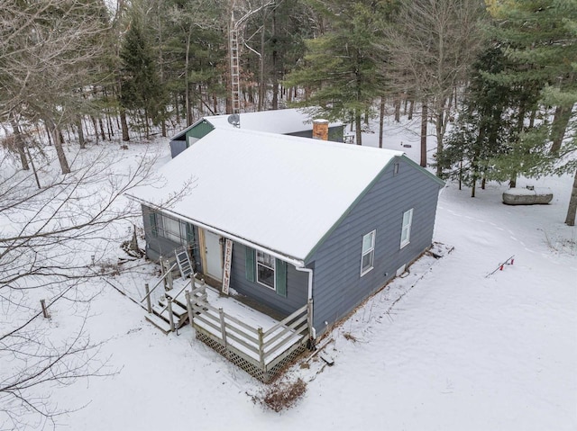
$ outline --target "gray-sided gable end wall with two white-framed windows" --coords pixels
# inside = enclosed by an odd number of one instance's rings
[[[317,334],[349,314],[431,245],[439,184],[397,158],[309,259],[315,263]],[[408,246],[400,248],[403,212],[413,208]],[[374,267],[361,276],[362,236],[376,229]]]

